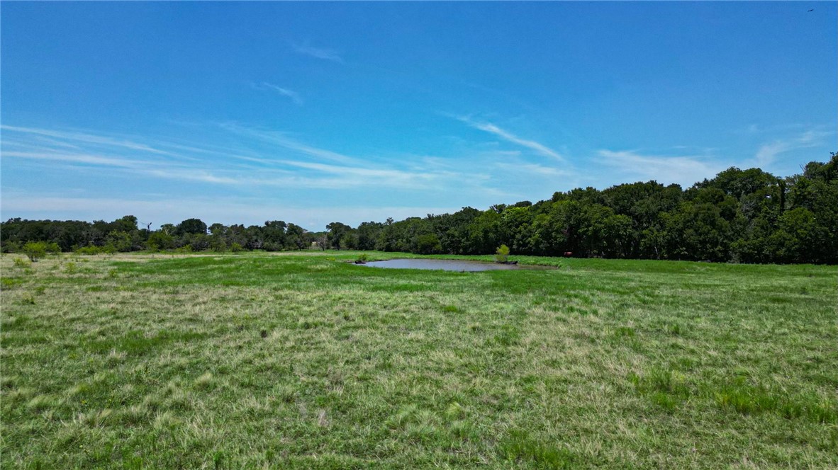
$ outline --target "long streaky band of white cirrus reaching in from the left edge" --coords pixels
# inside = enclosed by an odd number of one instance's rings
[[[281,186],[301,189],[391,187],[427,190],[453,186],[463,173],[432,167],[401,167],[391,162],[344,156],[292,140],[282,133],[253,130],[241,125],[220,125],[234,135],[250,137],[241,148],[219,151],[202,144],[188,146],[155,140],[154,146],[106,137],[92,132],[3,126],[3,161],[29,161],[62,171],[96,171],[142,175],[163,180],[214,185]],[[13,139],[8,139],[11,134]],[[39,139],[50,135],[51,143]],[[126,145],[126,142],[129,142]],[[69,143],[72,143],[70,146]],[[171,149],[171,150],[170,150]],[[197,156],[200,156],[198,158]],[[478,180],[475,180],[478,181]],[[476,183],[475,183],[476,184]]]

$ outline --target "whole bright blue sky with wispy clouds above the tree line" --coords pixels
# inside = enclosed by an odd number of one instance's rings
[[[3,3],[0,217],[322,230],[787,176],[838,151],[836,24],[815,2]]]

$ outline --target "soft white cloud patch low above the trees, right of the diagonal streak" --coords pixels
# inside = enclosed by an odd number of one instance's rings
[[[615,184],[639,178],[643,181],[691,186],[696,181],[715,176],[725,168],[722,163],[706,156],[642,155],[636,151],[600,150],[595,160],[616,172],[613,178]]]

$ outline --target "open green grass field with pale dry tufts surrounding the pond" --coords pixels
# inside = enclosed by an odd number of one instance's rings
[[[4,255],[0,466],[838,467],[834,266],[357,255]]]

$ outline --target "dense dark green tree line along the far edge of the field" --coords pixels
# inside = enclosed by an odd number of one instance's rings
[[[198,219],[150,232],[137,218],[114,222],[10,219],[0,227],[3,251],[28,241],[63,251],[241,250],[319,248],[410,253],[513,254],[655,258],[739,263],[838,263],[838,154],[779,178],[758,168],[722,171],[683,190],[655,181],[556,192],[551,199],[498,204],[485,211],[395,222],[328,224],[306,232],[282,221],[209,227]]]

